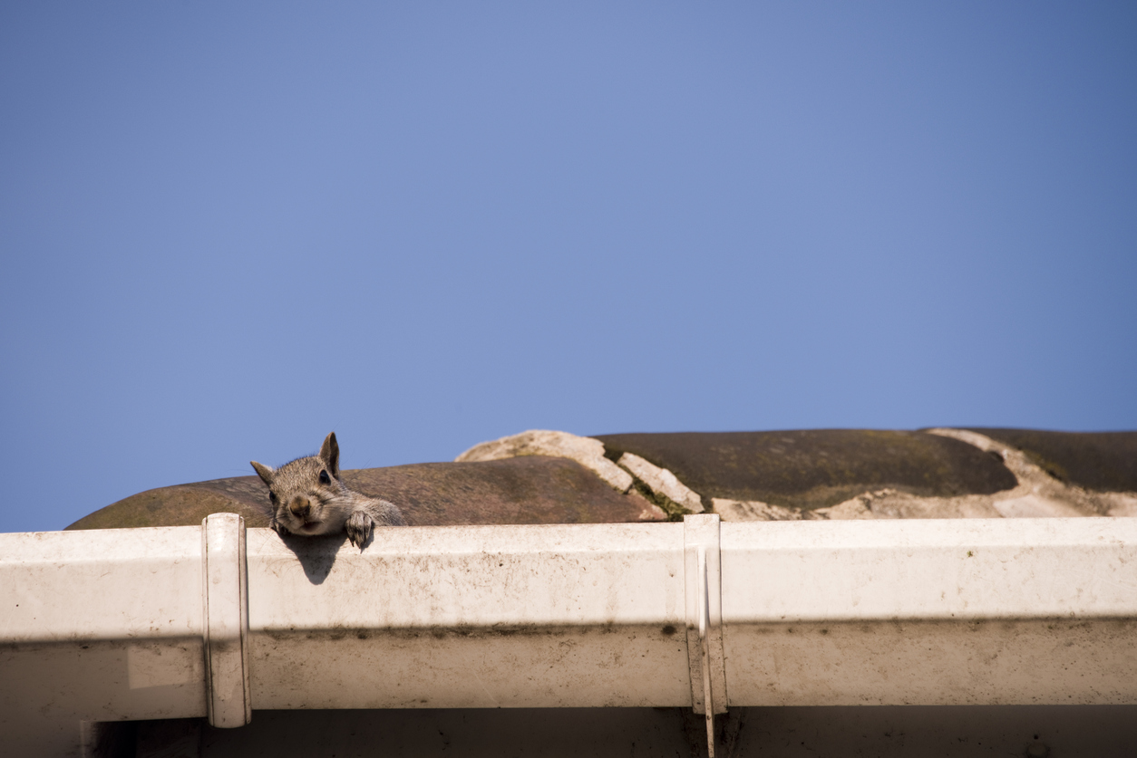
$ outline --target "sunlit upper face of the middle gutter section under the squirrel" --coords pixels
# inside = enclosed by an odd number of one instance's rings
[[[683,623],[682,524],[420,526],[327,545],[249,530],[249,625],[462,630]],[[297,560],[298,552],[301,556]]]

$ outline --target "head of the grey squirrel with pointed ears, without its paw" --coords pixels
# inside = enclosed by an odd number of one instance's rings
[[[273,526],[292,534],[326,534],[342,527],[335,507],[348,494],[340,480],[340,445],[335,432],[324,440],[319,453],[297,458],[280,468],[250,461],[268,486]]]

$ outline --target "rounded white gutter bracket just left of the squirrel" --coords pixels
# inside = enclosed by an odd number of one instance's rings
[[[244,726],[252,720],[248,564],[244,519],[236,514],[210,514],[201,522],[201,577],[209,724]]]

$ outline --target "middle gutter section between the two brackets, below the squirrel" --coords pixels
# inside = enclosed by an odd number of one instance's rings
[[[405,527],[331,555],[250,530],[248,552],[256,708],[691,703],[682,524]]]

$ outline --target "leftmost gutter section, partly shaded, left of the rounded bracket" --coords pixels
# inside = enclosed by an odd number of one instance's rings
[[[201,530],[0,534],[0,744],[81,756],[81,722],[206,714]]]

